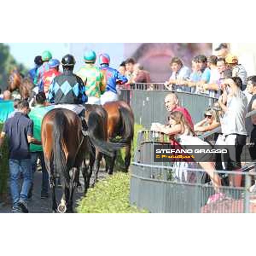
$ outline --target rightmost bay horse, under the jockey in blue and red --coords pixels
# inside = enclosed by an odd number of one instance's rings
[[[108,113],[108,141],[114,142],[115,138],[121,137],[117,143],[125,144],[125,171],[131,163],[131,143],[134,137],[134,114],[131,107],[124,101],[107,102],[103,108]],[[106,163],[106,172],[113,174],[116,151],[111,157],[110,164]],[[107,161],[106,161],[107,162]]]

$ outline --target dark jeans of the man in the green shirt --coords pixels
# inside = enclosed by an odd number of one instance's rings
[[[32,182],[34,180],[34,173],[36,171],[36,165],[38,158],[41,161],[42,167],[42,186],[41,186],[41,194],[47,194],[49,190],[49,175],[44,163],[44,152],[31,152],[31,165],[32,165]]]

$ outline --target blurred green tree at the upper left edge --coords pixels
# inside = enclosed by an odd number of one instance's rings
[[[13,58],[10,53],[9,46],[0,43],[0,88],[2,90],[6,89],[7,78],[14,67],[17,67],[23,75],[26,75],[28,72],[27,68],[23,64],[17,63],[15,58]]]

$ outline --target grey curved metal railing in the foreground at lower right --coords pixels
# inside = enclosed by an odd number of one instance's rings
[[[245,179],[244,187],[221,186],[219,192],[224,197],[209,203],[209,197],[216,192],[210,183],[204,183],[204,171],[183,168],[193,175],[193,182],[173,179],[174,167],[153,166],[133,163],[131,170],[131,204],[148,209],[153,213],[256,213],[256,196],[249,192],[256,172],[249,172],[255,166],[247,166],[241,174]],[[227,175],[227,172],[218,171]]]

